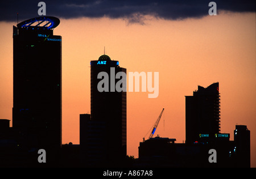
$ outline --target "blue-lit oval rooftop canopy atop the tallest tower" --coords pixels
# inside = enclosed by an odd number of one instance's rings
[[[60,19],[52,16],[41,16],[38,18],[32,18],[24,20],[23,22],[17,24],[18,28],[27,27],[43,27],[47,29],[53,29],[60,24]]]

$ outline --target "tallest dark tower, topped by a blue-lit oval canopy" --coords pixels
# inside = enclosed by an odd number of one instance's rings
[[[20,147],[43,148],[47,156],[61,147],[61,36],[53,35],[59,23],[41,16],[13,27],[13,127]]]

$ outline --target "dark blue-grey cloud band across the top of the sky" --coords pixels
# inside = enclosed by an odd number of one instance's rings
[[[38,15],[40,1],[1,2],[0,20],[16,21],[30,19]],[[154,15],[163,19],[201,18],[208,15],[211,0],[98,0],[98,1],[43,1],[46,15],[57,18],[125,18],[131,23],[143,23],[144,15]],[[255,0],[216,0],[217,11],[255,12]]]

